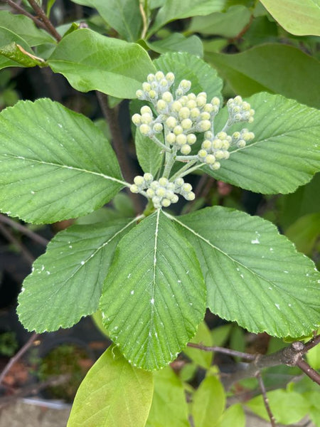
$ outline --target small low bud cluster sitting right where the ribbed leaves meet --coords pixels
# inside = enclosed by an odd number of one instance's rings
[[[156,209],[167,208],[171,203],[176,203],[178,201],[177,194],[181,194],[189,201],[195,198],[191,184],[185,183],[182,178],[177,178],[171,182],[169,179],[162,177],[159,181],[156,181],[149,173],[144,174],[144,176],[135,176],[134,184],[130,186],[130,191],[132,193],[145,192]]]

